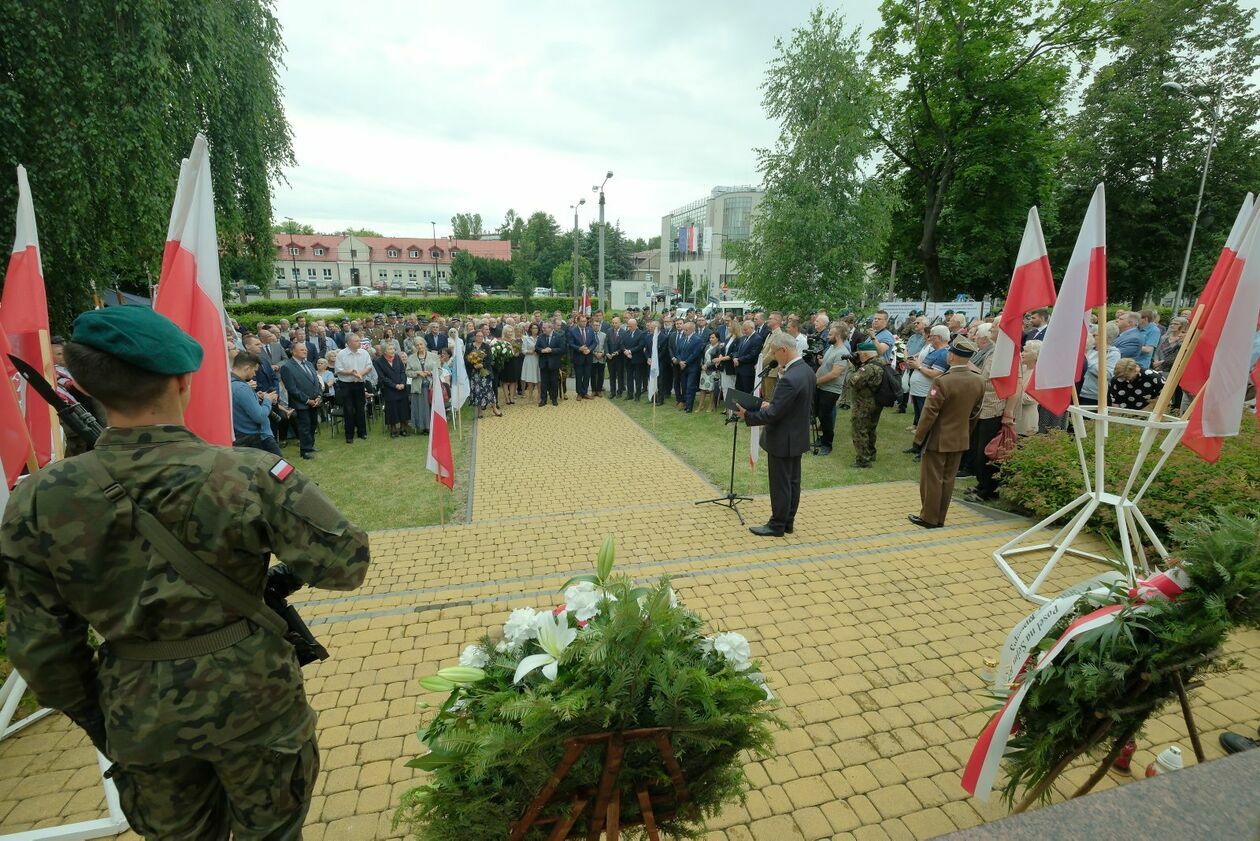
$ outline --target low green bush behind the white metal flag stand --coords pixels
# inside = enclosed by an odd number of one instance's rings
[[[1123,483],[1138,450],[1138,430],[1113,425],[1108,436],[1108,489]],[[1158,450],[1157,450],[1158,454]],[[1085,456],[1092,459],[1092,427],[1085,440]],[[1090,461],[1092,464],[1092,461]],[[1037,517],[1046,517],[1079,497],[1084,489],[1076,445],[1067,432],[1033,435],[1002,467],[1002,498]],[[1184,446],[1164,464],[1142,499],[1142,513],[1152,528],[1169,533],[1182,523],[1220,507],[1242,504],[1260,508],[1260,431],[1254,417],[1242,420],[1242,432],[1226,439],[1221,460],[1208,464]],[[1105,522],[1114,512],[1102,508]]]

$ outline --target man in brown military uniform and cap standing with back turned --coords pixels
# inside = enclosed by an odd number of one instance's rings
[[[910,514],[910,522],[924,528],[945,525],[958,465],[963,453],[971,446],[971,430],[984,400],[984,380],[966,363],[978,349],[966,337],[954,339],[946,357],[949,371],[932,382],[915,427],[914,449],[921,454],[919,497],[922,508]]]

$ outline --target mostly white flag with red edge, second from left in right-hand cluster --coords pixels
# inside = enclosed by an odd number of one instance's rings
[[[1072,258],[1050,314],[1046,338],[1037,356],[1027,392],[1048,411],[1062,415],[1072,402],[1072,390],[1085,358],[1085,319],[1106,304],[1106,194],[1099,184],[1085,211]],[[1004,320],[1004,319],[1003,319]],[[1106,329],[1099,324],[1099,329]]]

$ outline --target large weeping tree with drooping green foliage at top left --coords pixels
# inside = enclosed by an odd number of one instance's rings
[[[294,163],[270,0],[23,0],[0,11],[0,224],[30,174],[53,322],[156,280],[179,161],[210,146],[219,243],[271,279],[271,188]]]

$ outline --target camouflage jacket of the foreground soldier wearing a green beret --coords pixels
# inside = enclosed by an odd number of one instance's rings
[[[14,489],[0,525],[9,657],[45,706],[81,725],[103,715],[108,754],[158,763],[314,729],[292,648],[263,629],[194,658],[123,661],[105,641],[171,641],[239,619],[183,580],[84,470],[101,464],[204,564],[262,594],[272,555],[306,584],[350,590],[368,540],[300,473],[260,450],[210,446],[181,426],[107,429],[96,454]],[[89,733],[92,730],[89,729]]]

